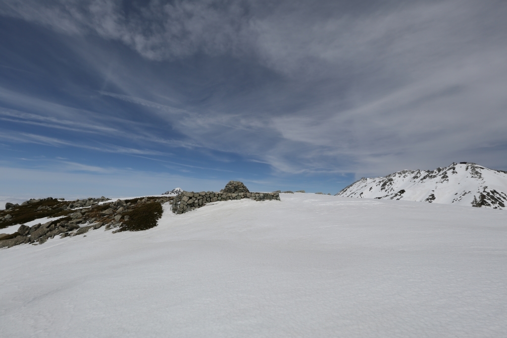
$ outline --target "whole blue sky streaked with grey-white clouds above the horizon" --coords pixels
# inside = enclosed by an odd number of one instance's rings
[[[0,0],[0,196],[507,170],[503,1]]]

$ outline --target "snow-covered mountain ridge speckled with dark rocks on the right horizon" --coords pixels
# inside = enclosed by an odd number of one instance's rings
[[[433,171],[403,170],[385,177],[361,178],[336,196],[504,209],[507,172],[476,163],[452,163]]]

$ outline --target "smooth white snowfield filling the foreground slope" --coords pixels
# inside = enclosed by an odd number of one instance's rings
[[[507,336],[506,211],[280,196],[2,249],[0,336]]]

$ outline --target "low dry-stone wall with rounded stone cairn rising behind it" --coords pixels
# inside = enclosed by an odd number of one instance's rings
[[[214,191],[182,191],[174,197],[172,203],[172,212],[175,214],[184,214],[191,210],[201,208],[207,203],[219,200],[249,198],[253,200],[280,200],[278,192],[250,192],[243,183],[230,181],[220,192]]]

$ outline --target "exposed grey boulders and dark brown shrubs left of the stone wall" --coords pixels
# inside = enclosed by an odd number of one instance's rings
[[[21,224],[12,234],[0,234],[0,248],[10,248],[23,243],[43,244],[55,235],[60,235],[60,238],[77,236],[103,225],[105,230],[118,228],[113,232],[146,230],[157,225],[157,219],[162,214],[161,205],[173,198],[164,196],[144,197],[142,200],[118,199],[102,204],[98,201],[107,200],[105,197],[67,202],[51,197],[31,199],[23,202],[21,206],[0,212],[0,228],[45,217],[60,218],[31,227]],[[80,209],[73,210],[73,207]]]

